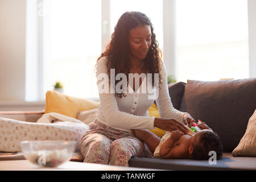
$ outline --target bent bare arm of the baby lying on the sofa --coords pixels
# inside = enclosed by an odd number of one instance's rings
[[[159,155],[164,159],[184,159],[187,156],[187,148],[183,144],[175,144],[184,135],[180,131],[172,131],[160,148]]]

